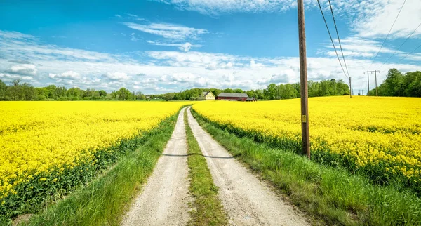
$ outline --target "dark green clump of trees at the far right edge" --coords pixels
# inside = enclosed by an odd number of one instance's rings
[[[375,88],[369,94],[375,95]],[[385,81],[377,88],[377,95],[421,98],[421,72],[403,74],[398,69],[389,69]]]

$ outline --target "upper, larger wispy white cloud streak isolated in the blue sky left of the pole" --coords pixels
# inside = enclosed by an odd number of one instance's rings
[[[140,25],[134,22],[124,22],[124,25],[130,27],[131,29],[137,29],[141,32],[146,32],[149,34],[156,34],[163,36],[166,39],[198,39],[199,35],[206,34],[208,31],[206,29],[196,29],[192,27],[185,27],[182,25],[171,25],[164,23],[152,23],[150,25]]]

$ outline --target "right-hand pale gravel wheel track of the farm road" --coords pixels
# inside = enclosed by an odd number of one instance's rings
[[[231,225],[309,225],[187,114]]]

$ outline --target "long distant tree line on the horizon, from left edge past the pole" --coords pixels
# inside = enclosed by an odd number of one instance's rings
[[[342,80],[308,81],[308,86],[309,97],[349,95],[349,86]],[[281,100],[300,98],[300,83],[269,84],[265,89],[249,91],[241,88],[191,88],[180,92],[144,95],[142,92],[129,91],[127,88],[107,93],[93,88],[83,90],[55,85],[34,87],[29,83],[21,83],[20,80],[13,80],[6,85],[0,80],[0,100],[199,100],[202,93],[207,91],[211,91],[215,96],[220,93],[246,93],[249,97],[260,100]]]

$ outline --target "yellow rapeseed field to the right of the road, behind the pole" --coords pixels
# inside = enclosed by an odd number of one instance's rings
[[[193,109],[222,128],[300,150],[300,99],[200,102]],[[309,98],[312,157],[363,171],[377,182],[421,186],[421,98]]]

